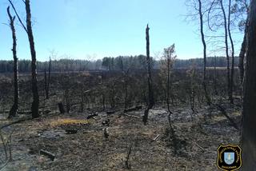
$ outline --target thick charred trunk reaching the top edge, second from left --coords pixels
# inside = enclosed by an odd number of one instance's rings
[[[37,58],[36,52],[34,49],[34,36],[32,31],[31,24],[31,10],[30,10],[30,0],[25,1],[26,5],[26,30],[27,36],[30,41],[30,54],[31,54],[31,74],[32,74],[32,93],[33,93],[33,102],[31,106],[32,117],[39,117],[39,94],[38,94],[38,79],[37,79]]]

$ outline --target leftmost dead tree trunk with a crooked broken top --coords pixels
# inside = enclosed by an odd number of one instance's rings
[[[13,58],[14,58],[14,105],[12,105],[10,112],[9,112],[9,118],[14,117],[17,114],[18,111],[18,95],[19,95],[19,89],[18,89],[18,58],[17,58],[17,38],[16,38],[16,30],[14,27],[14,20],[15,16],[11,16],[10,14],[10,6],[7,8],[7,14],[10,18],[10,30],[12,32],[12,38],[13,38]]]

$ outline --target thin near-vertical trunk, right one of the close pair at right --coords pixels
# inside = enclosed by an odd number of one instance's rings
[[[231,44],[230,103],[234,104],[234,101],[233,101],[233,87],[234,87],[234,42],[233,42],[233,38],[231,36],[231,31],[230,31],[230,14],[231,14],[231,0],[229,0],[229,15],[228,15],[227,29],[228,29],[228,32],[229,32],[230,44]]]

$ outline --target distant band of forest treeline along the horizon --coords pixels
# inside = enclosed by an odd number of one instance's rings
[[[154,69],[159,69],[161,60],[152,59]],[[207,58],[207,67],[225,67],[226,58],[224,57],[209,57]],[[38,72],[48,70],[49,62],[37,62]],[[174,68],[197,68],[203,67],[202,58],[193,59],[176,59]],[[234,60],[234,66],[238,66],[238,57]],[[96,61],[60,59],[51,61],[52,72],[66,71],[85,71],[85,70],[143,70],[146,69],[146,57],[138,56],[119,56],[117,58],[103,58]],[[28,73],[31,70],[30,60],[20,60],[18,62],[18,70],[21,73]],[[13,72],[13,61],[0,60],[0,73]]]

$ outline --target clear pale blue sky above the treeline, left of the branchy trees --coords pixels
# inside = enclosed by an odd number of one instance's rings
[[[14,0],[26,21],[22,0]],[[0,2],[0,59],[12,60],[7,0]],[[34,42],[39,61],[50,50],[58,58],[97,59],[146,54],[145,28],[150,26],[150,55],[176,44],[178,58],[201,58],[197,22],[186,22],[185,0],[31,0]],[[14,14],[14,13],[13,13]],[[26,33],[16,21],[18,58],[30,59]],[[238,39],[239,36],[235,37]]]

